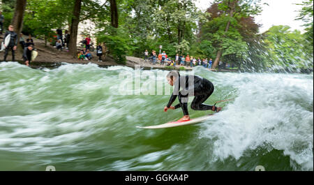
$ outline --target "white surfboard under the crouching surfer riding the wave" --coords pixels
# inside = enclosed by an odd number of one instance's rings
[[[209,114],[209,115],[206,115],[204,117],[197,117],[195,119],[190,119],[190,121],[172,121],[172,122],[169,122],[166,124],[160,124],[160,125],[154,125],[154,126],[136,126],[136,128],[155,129],[155,128],[170,128],[170,127],[174,127],[174,126],[184,126],[184,125],[189,125],[189,124],[197,124],[197,123],[200,123],[202,121],[209,119],[213,115],[214,114]]]

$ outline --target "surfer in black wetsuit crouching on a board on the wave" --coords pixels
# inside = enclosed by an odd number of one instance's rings
[[[184,75],[180,76],[177,71],[170,71],[167,74],[167,81],[171,86],[174,86],[174,91],[170,97],[169,103],[165,106],[164,111],[167,112],[168,109],[181,108],[184,112],[184,117],[178,121],[188,121],[190,116],[188,114],[188,96],[195,96],[190,108],[193,110],[213,110],[219,112],[221,108],[214,105],[203,104],[204,101],[211,96],[214,92],[214,84],[209,80],[197,76],[197,75]],[[179,91],[182,89],[181,91]],[[177,98],[179,99],[179,104],[172,106],[172,103]]]

